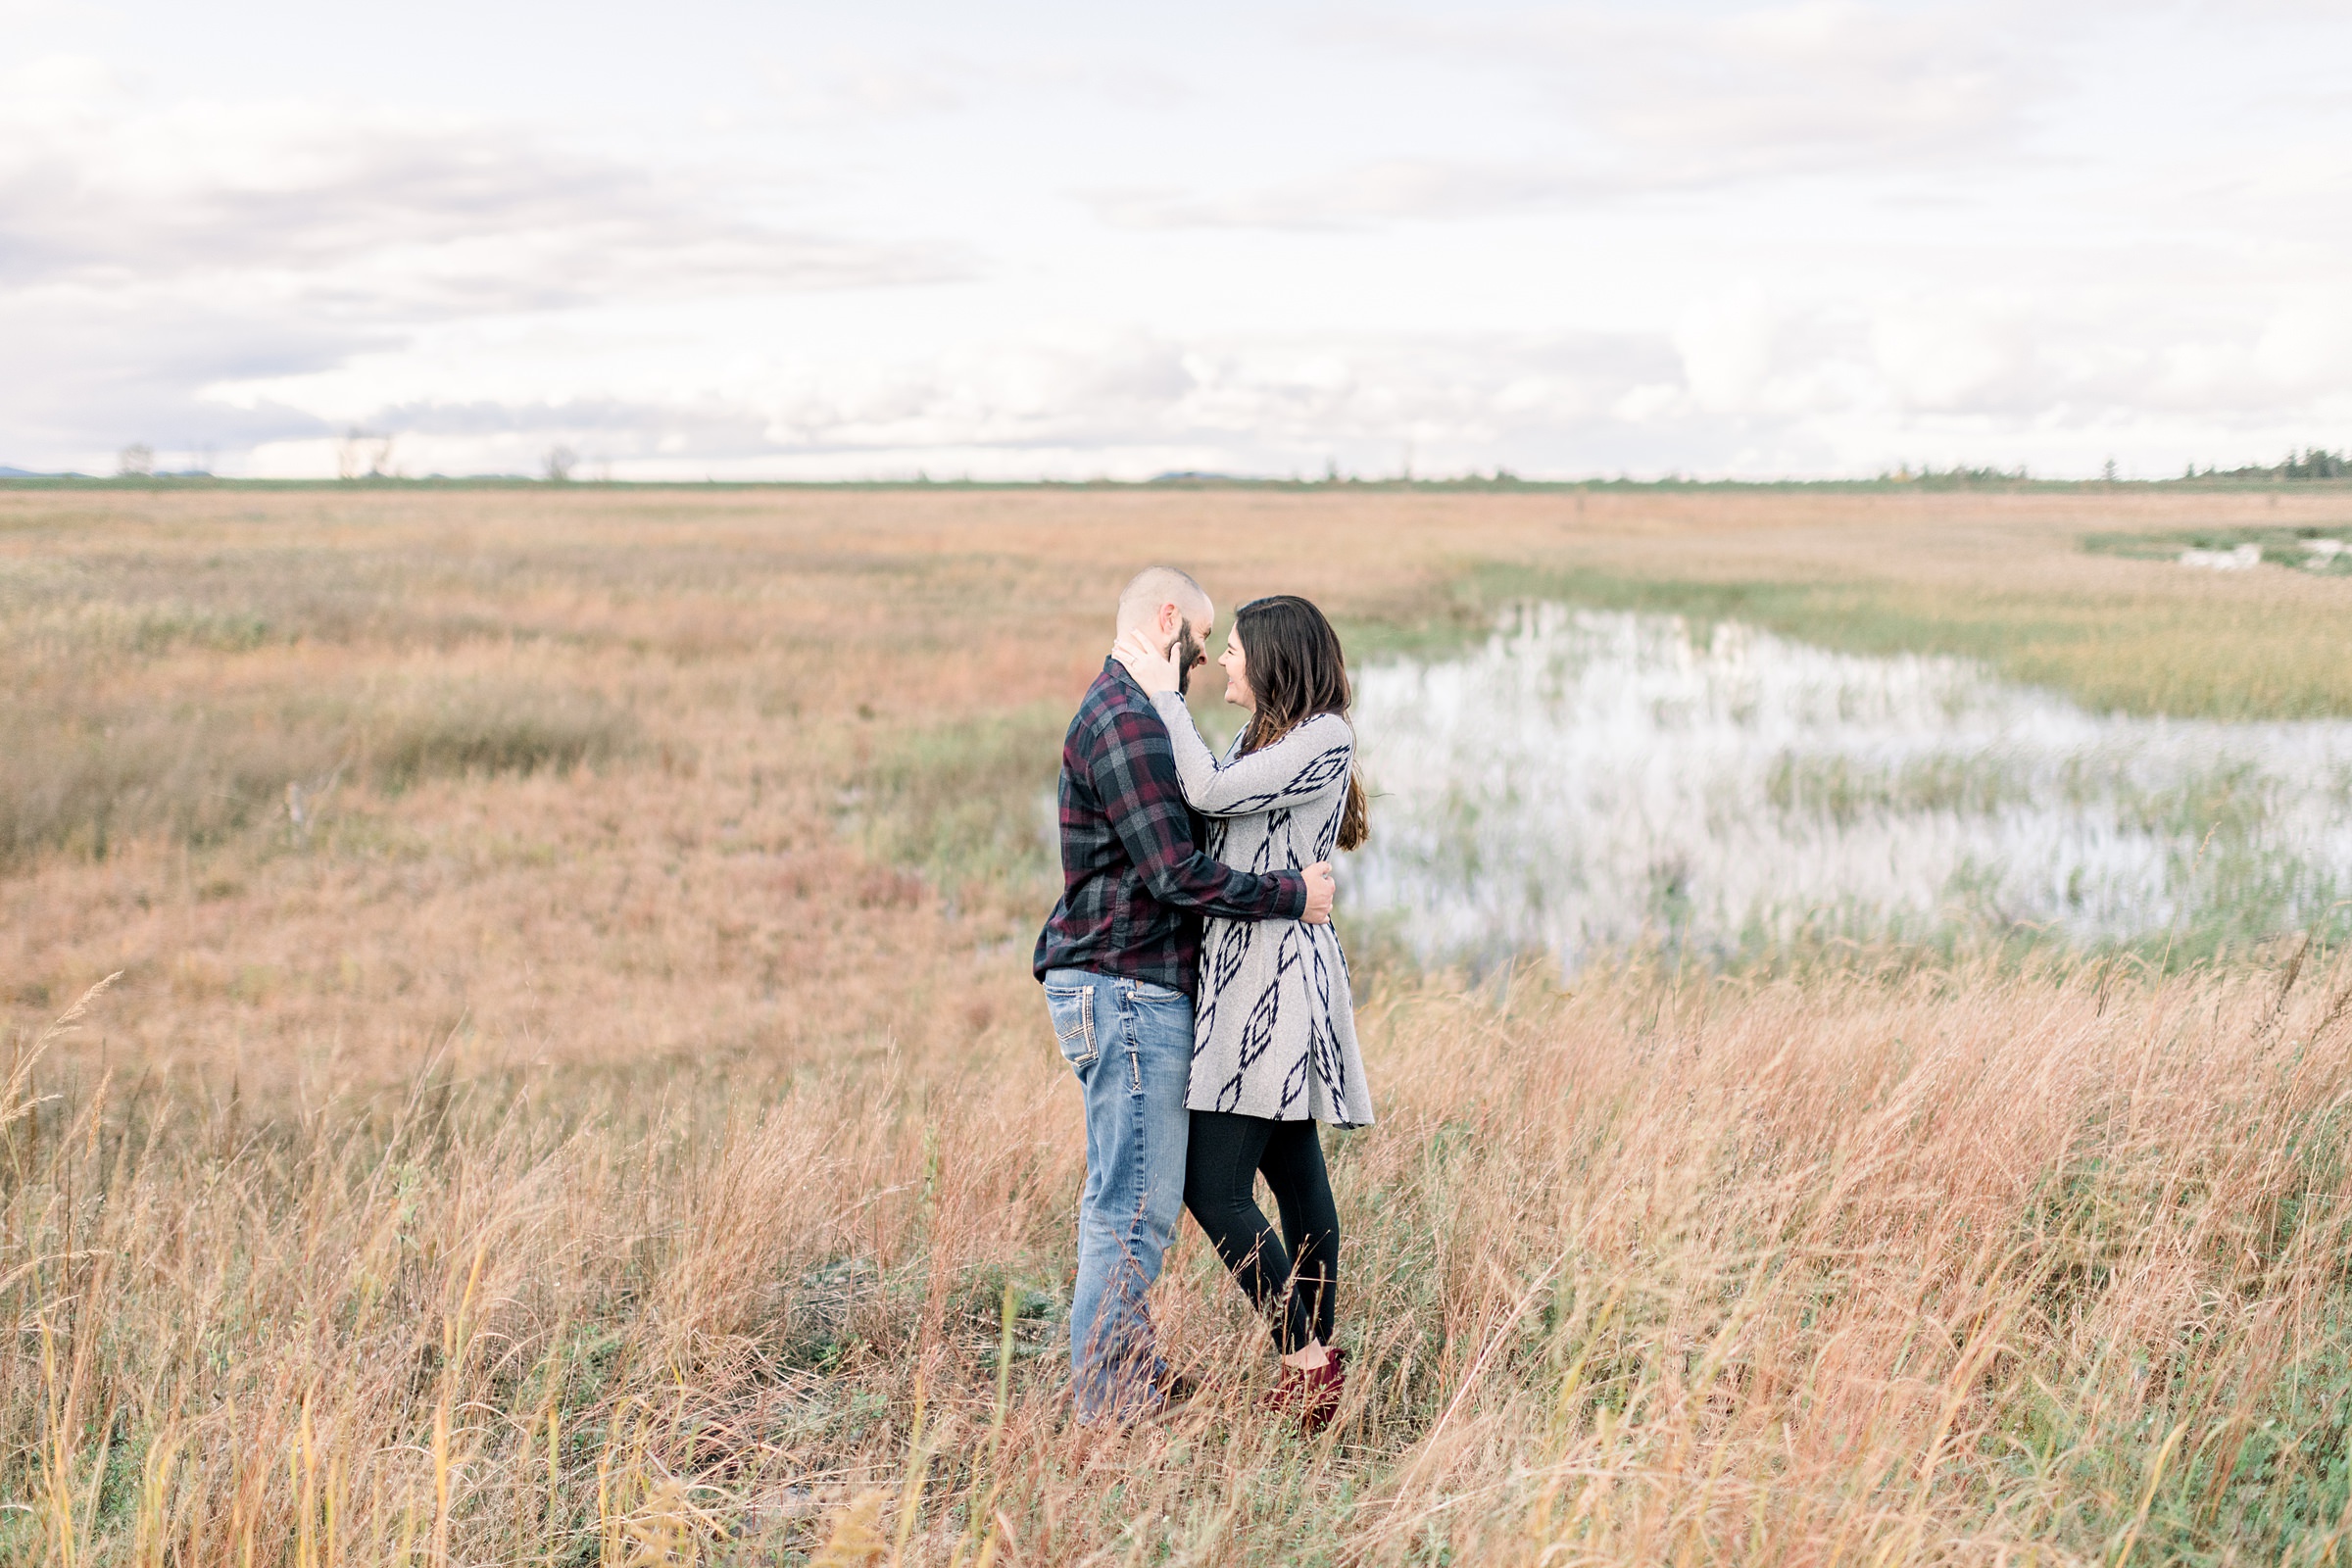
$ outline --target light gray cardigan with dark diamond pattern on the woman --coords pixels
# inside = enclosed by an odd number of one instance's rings
[[[1247,757],[1237,755],[1237,736],[1221,762],[1178,693],[1152,693],[1152,705],[1169,726],[1183,797],[1209,818],[1211,858],[1249,872],[1331,858],[1355,759],[1348,719],[1317,715]],[[1209,922],[1185,1105],[1270,1121],[1371,1124],[1348,957],[1331,926]]]

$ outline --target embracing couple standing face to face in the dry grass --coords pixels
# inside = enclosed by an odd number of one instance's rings
[[[1152,567],[1061,750],[1063,893],[1037,978],[1087,1103],[1070,1373],[1080,1420],[1188,1392],[1145,1293],[1181,1208],[1270,1321],[1272,1401],[1338,1408],[1338,1211],[1315,1124],[1367,1126],[1331,851],[1364,842],[1338,635],[1308,599],[1251,599],[1218,663],[1249,712],[1218,757],[1185,708],[1216,607]],[[1254,1199],[1275,1194],[1282,1234]]]

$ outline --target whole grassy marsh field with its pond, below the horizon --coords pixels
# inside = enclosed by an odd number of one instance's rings
[[[2345,534],[0,489],[0,1559],[2338,1561]],[[1319,1439],[1190,1225],[1204,1394],[1065,1418],[1042,797],[1152,559],[1359,670]]]

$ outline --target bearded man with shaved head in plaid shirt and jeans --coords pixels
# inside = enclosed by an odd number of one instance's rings
[[[1150,567],[1120,595],[1120,635],[1131,630],[1190,684],[1216,607],[1183,571]],[[1143,1295],[1183,1213],[1202,914],[1322,924],[1334,882],[1322,860],[1251,875],[1200,851],[1169,731],[1117,658],[1061,743],[1061,877],[1035,969],[1087,1095],[1070,1378],[1094,1420],[1152,1410],[1169,1385]]]

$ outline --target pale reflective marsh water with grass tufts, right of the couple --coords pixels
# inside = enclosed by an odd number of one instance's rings
[[[2352,896],[2352,724],[2100,717],[1952,658],[1531,607],[1376,665],[1359,912],[1428,957],[2039,926],[2171,947]]]

